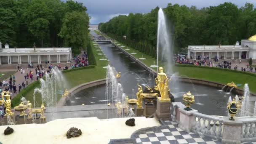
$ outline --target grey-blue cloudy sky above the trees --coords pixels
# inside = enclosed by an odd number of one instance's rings
[[[219,5],[224,2],[232,2],[243,6],[246,2],[256,5],[256,0],[76,0],[83,3],[91,16],[91,24],[106,22],[114,16],[128,13],[148,13],[152,8],[166,7],[168,3],[180,5],[195,5],[197,8],[210,5]]]

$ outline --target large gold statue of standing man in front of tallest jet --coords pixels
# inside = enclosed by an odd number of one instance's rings
[[[162,99],[170,99],[169,98],[169,80],[166,74],[163,72],[163,67],[159,67],[159,73],[157,74],[158,79],[158,88]]]

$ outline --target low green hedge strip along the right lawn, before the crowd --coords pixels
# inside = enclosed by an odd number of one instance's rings
[[[237,73],[241,73],[241,74],[245,74],[245,75],[251,75],[256,77],[255,73],[252,72],[244,72],[241,70],[234,70],[234,69],[223,69],[223,68],[219,68],[219,67],[205,67],[205,66],[195,66],[192,64],[175,64],[176,67],[197,67],[197,68],[204,68],[204,69],[218,69],[218,70],[224,70],[224,71],[229,71],[229,72],[237,72]]]

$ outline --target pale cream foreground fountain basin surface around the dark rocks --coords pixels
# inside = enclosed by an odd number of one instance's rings
[[[125,125],[128,119],[68,118],[45,124],[15,125],[11,126],[15,131],[11,135],[1,134],[1,142],[3,144],[35,144],[35,141],[40,141],[42,144],[108,144],[110,139],[128,139],[136,130],[160,125],[155,118],[135,117],[136,125],[130,127]],[[81,129],[82,135],[67,139],[66,133],[70,127]],[[6,125],[0,126],[0,131],[4,131],[5,128]]]

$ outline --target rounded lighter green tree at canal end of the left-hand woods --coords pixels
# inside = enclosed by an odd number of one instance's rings
[[[75,54],[80,53],[80,48],[85,48],[89,43],[88,36],[89,16],[86,13],[73,11],[66,13],[59,36],[64,39],[64,45],[72,47]]]

